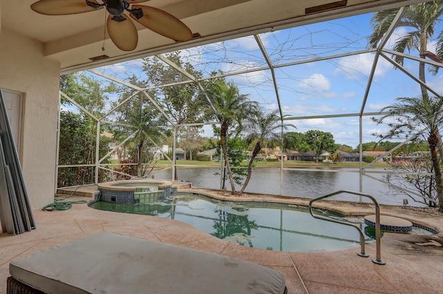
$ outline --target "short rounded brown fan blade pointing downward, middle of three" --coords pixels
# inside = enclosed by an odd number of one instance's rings
[[[127,14],[122,14],[120,17],[114,17],[114,15],[109,14],[106,28],[109,37],[120,50],[132,51],[137,47],[137,29]]]

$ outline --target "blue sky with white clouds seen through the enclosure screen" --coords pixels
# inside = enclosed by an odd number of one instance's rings
[[[296,130],[291,130],[300,133],[322,130],[332,133],[337,144],[353,148],[358,146],[359,117],[302,117],[359,113],[368,87],[374,53],[309,63],[305,61],[367,49],[367,37],[372,32],[371,17],[372,14],[363,14],[260,35],[273,65],[281,66],[275,68],[275,77],[282,111],[287,117],[297,118],[288,121],[296,126]],[[434,37],[440,31],[439,23]],[[385,48],[392,49],[395,40],[405,32],[405,28],[397,28]],[[428,50],[435,52],[433,40],[428,43]],[[418,55],[416,51],[409,54]],[[390,55],[387,56],[390,58]],[[213,70],[232,73],[267,66],[253,36],[182,50],[181,57],[203,72],[204,77],[208,77]],[[289,63],[299,64],[284,66]],[[122,80],[132,75],[145,79],[141,64],[141,60],[134,60],[97,70]],[[404,68],[418,75],[417,61],[405,59]],[[232,75],[226,79],[233,81],[240,93],[258,101],[263,108],[278,108],[271,70]],[[443,71],[435,76],[427,72],[426,81],[435,91],[443,92]],[[364,112],[379,112],[397,97],[417,97],[419,92],[419,84],[381,58],[377,63]],[[204,130],[205,136],[213,135],[210,126],[205,126]],[[363,117],[363,143],[377,141],[377,137],[372,135],[374,133],[386,133],[386,126],[375,124],[369,116]]]

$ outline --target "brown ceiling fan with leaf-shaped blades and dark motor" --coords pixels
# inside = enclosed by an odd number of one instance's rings
[[[125,10],[138,23],[159,35],[174,41],[189,41],[191,30],[172,14],[143,5],[132,5],[147,0],[39,0],[30,8],[46,15],[68,15],[90,12],[106,8],[109,12],[106,27],[114,44],[124,51],[132,51],[138,43],[136,26],[129,19]],[[131,6],[131,7],[129,7]]]

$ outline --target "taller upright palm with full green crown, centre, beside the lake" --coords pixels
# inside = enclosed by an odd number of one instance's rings
[[[228,160],[228,130],[233,127],[241,128],[242,121],[253,112],[256,104],[248,99],[247,95],[239,93],[239,89],[233,83],[217,80],[210,84],[208,97],[212,105],[208,105],[208,119],[215,119],[220,124],[220,146],[223,158],[228,170],[230,188],[235,195],[235,182],[233,171]]]

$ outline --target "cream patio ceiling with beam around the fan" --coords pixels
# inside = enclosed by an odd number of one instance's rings
[[[0,0],[1,27],[41,41],[46,57],[60,61],[62,72],[69,72],[223,39],[407,6],[423,0],[347,0],[342,8],[313,14],[305,14],[305,9],[334,0],[152,0],[141,5],[173,14],[201,37],[175,43],[137,23],[138,46],[132,52],[119,50],[105,35],[105,10],[46,16],[30,9],[34,2]],[[104,35],[105,51],[102,51]],[[91,61],[91,57],[100,55],[107,55],[109,59]]]

